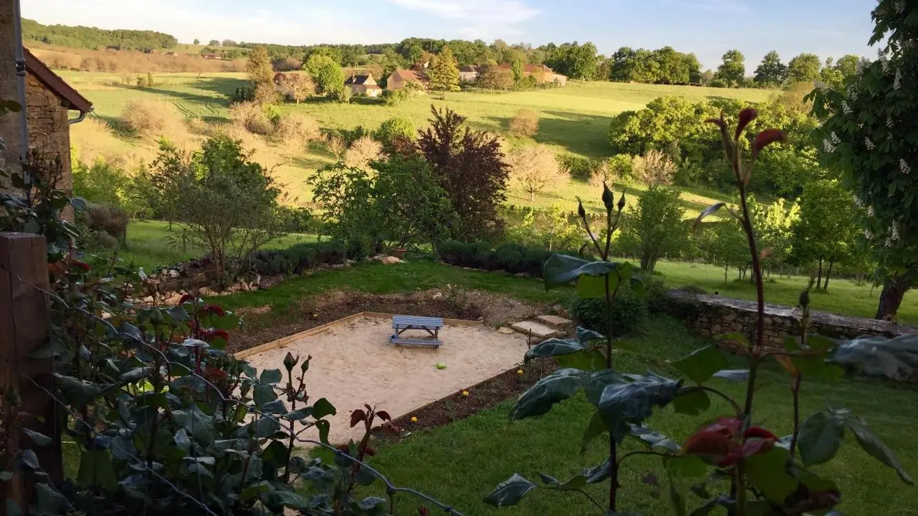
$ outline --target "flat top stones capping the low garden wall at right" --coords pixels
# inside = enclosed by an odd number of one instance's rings
[[[695,294],[678,290],[670,290],[669,295],[671,297],[694,300],[709,306],[728,308],[739,313],[755,314],[757,311],[757,303],[754,301],[745,301],[720,295]],[[799,307],[766,303],[765,314],[768,317],[780,317],[799,321],[801,312]],[[909,324],[890,323],[877,319],[849,317],[818,311],[811,311],[811,323],[815,326],[843,327],[852,330],[854,333],[872,335],[895,336],[918,334],[918,327]]]

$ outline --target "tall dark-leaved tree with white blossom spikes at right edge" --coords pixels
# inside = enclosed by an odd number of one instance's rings
[[[918,83],[918,6],[881,0],[872,16],[879,59],[862,63],[844,89],[813,92],[813,105],[824,119],[824,159],[867,212],[859,220],[883,280],[882,319],[895,316],[918,279],[918,92],[910,87]]]

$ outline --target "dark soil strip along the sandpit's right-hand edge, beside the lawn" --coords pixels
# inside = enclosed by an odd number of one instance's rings
[[[517,372],[519,369],[522,369],[522,375]],[[459,390],[414,412],[400,416],[392,420],[389,432],[377,436],[392,439],[393,432],[391,431],[407,436],[408,433],[436,428],[473,416],[502,401],[516,398],[532,387],[536,381],[552,374],[555,369],[557,365],[552,359],[536,358],[520,368],[509,369],[475,386],[469,386],[465,389],[468,390],[468,396],[463,396],[462,390]],[[418,418],[418,422],[411,423],[412,417]]]

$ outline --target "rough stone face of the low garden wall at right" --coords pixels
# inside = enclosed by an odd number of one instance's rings
[[[752,341],[756,330],[756,302],[722,296],[669,291],[667,312],[689,323],[700,335],[742,332]],[[893,337],[918,334],[918,327],[875,319],[844,317],[812,312],[810,331],[833,338],[860,335]],[[788,335],[800,335],[800,308],[766,304],[765,339],[769,346],[783,346]]]

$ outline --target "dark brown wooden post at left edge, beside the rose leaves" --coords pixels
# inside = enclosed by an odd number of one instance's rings
[[[58,482],[63,477],[61,432],[57,408],[45,391],[54,389],[53,359],[30,357],[48,345],[50,336],[50,303],[42,291],[50,288],[46,253],[44,236],[0,233],[0,378],[17,382],[21,400],[18,426],[51,439],[50,445],[39,446],[25,434],[13,432],[6,445],[16,453],[23,448],[33,450],[50,481]],[[7,482],[5,494],[16,500],[25,514],[23,503],[31,498],[31,488],[28,482],[18,480]],[[4,512],[6,507],[0,508],[0,513]]]

